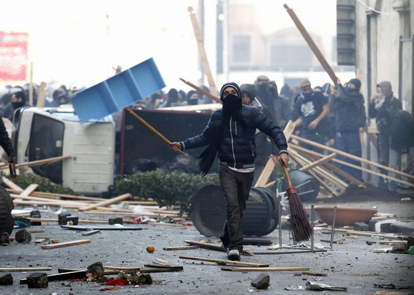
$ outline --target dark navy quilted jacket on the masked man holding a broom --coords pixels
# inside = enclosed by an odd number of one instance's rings
[[[215,137],[222,117],[222,109],[214,111],[203,133],[181,142],[184,149],[195,149],[210,144]],[[230,117],[228,126],[224,129],[223,140],[219,148],[219,164],[237,169],[255,166],[255,133],[259,129],[272,137],[279,151],[286,151],[288,144],[282,130],[270,121],[264,113],[251,106],[242,106],[242,115],[246,122],[243,128],[239,122]]]

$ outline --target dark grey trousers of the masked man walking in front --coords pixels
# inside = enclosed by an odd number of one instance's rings
[[[226,199],[226,223],[220,239],[224,247],[243,250],[242,217],[253,182],[253,172],[240,173],[220,166],[219,179]]]

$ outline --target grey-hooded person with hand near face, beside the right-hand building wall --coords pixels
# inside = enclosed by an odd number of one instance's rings
[[[402,110],[402,104],[400,100],[394,97],[391,83],[388,81],[383,81],[377,84],[377,94],[371,96],[368,115],[371,118],[375,118],[377,125],[380,123],[380,119],[378,118],[378,111],[382,109]],[[386,135],[386,133],[380,131],[380,133],[377,134],[377,139],[378,161],[380,164],[388,166],[388,164],[390,164],[390,137]],[[392,163],[391,165],[395,166],[395,163]],[[384,169],[380,169],[380,172],[383,174],[387,173],[387,171]],[[379,185],[380,187],[386,187],[386,180],[380,178]]]

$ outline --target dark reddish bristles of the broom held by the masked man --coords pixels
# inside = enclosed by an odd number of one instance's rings
[[[312,236],[312,227],[299,195],[297,193],[288,194],[288,201],[290,230],[292,231],[293,242],[300,243],[310,240]]]

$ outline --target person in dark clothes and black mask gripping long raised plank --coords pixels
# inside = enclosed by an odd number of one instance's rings
[[[335,86],[334,86],[335,87]],[[359,93],[361,82],[359,79],[349,80],[346,88],[339,82],[334,88],[330,103],[333,118],[335,118],[335,146],[339,151],[351,153],[357,157],[362,156],[362,145],[359,137],[359,129],[366,125],[366,115],[364,106],[364,96]],[[339,160],[361,166],[361,162],[338,155]],[[357,180],[364,182],[362,171],[359,169],[338,165],[346,173],[352,175]],[[344,179],[348,182],[348,180]]]

